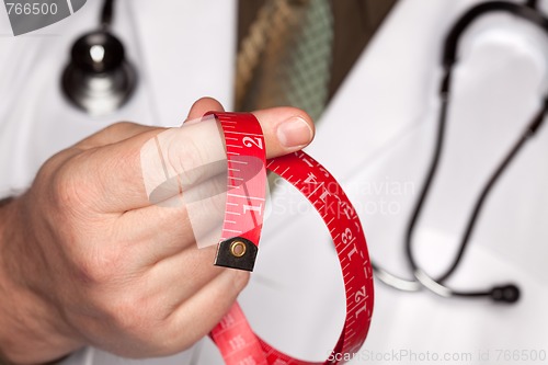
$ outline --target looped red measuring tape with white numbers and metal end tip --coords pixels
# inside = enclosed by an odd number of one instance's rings
[[[225,134],[227,205],[216,265],[253,270],[264,212],[266,169],[300,191],[318,210],[335,246],[346,293],[346,318],[331,356],[319,364],[342,364],[361,347],[373,313],[373,272],[356,210],[334,178],[302,151],[265,160],[261,126],[249,113],[214,114]],[[253,333],[235,304],[210,332],[228,365],[318,364],[293,358]]]

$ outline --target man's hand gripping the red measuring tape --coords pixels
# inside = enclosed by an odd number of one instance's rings
[[[199,100],[189,118],[209,110],[221,106]],[[312,139],[299,110],[254,114],[269,158]],[[115,124],[54,156],[0,208],[0,352],[11,361],[43,363],[88,344],[172,354],[206,335],[246,286],[248,273],[213,265],[215,247],[197,249],[184,206],[149,202],[140,151],[162,130]],[[201,138],[184,152],[196,149],[193,163]],[[167,161],[178,164],[182,149],[171,147]]]

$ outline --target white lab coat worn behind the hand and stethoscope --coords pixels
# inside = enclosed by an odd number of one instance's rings
[[[399,274],[409,275],[402,238],[434,142],[444,34],[477,2],[401,0],[319,121],[307,149],[346,189],[373,258]],[[49,156],[115,121],[175,126],[199,96],[231,104],[236,1],[133,0],[117,4],[114,28],[139,70],[137,93],[107,117],[90,118],[69,106],[60,93],[60,72],[75,37],[95,26],[100,4],[89,1],[35,34],[0,37],[2,194],[28,186]],[[10,33],[3,11],[0,32]],[[479,189],[539,107],[548,71],[546,42],[533,26],[499,15],[477,22],[463,39],[442,167],[415,235],[419,262],[432,274],[450,261]],[[464,289],[515,282],[522,300],[512,307],[447,300],[378,284],[369,337],[353,364],[511,363],[501,357],[507,351],[525,350],[529,357],[530,351],[548,351],[545,156],[548,126],[493,190],[450,281]],[[272,208],[255,273],[240,303],[267,342],[321,361],[342,328],[342,278],[319,217],[302,214],[310,209],[302,210],[304,203],[295,204],[299,196],[292,196]],[[453,360],[444,361],[446,355]],[[64,364],[220,362],[204,340],[165,358],[129,361],[85,349]]]

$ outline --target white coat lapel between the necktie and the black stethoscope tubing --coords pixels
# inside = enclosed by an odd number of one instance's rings
[[[334,95],[308,151],[341,182],[436,113],[445,28],[476,0],[399,2]],[[402,32],[402,30],[406,30]]]

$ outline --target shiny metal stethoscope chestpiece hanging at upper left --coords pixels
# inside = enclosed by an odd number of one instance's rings
[[[137,83],[137,73],[126,60],[124,46],[107,31],[79,37],[62,73],[67,99],[90,115],[105,115],[124,105]]]

